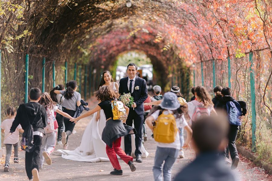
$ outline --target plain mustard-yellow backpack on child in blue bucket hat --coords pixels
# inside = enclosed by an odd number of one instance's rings
[[[176,119],[173,114],[162,114],[155,121],[154,140],[160,143],[173,143],[176,138]]]

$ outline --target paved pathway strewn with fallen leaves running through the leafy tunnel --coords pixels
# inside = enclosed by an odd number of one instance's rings
[[[89,120],[92,116],[87,117],[86,119],[81,120],[75,126],[75,134],[72,134],[69,137],[69,150],[75,149],[79,146],[81,137],[83,135],[86,125],[89,123]],[[151,131],[148,129],[148,133]],[[149,134],[150,135],[150,134]],[[51,154],[52,165],[44,165],[44,169],[40,170],[40,180],[42,181],[61,181],[61,180],[75,180],[75,181],[86,181],[86,180],[99,180],[99,181],[119,181],[119,180],[135,180],[135,181],[152,181],[153,173],[152,166],[154,162],[155,154],[155,142],[149,137],[149,140],[144,144],[145,148],[149,152],[149,157],[143,159],[142,163],[135,163],[137,170],[131,172],[129,166],[125,164],[122,160],[119,160],[121,167],[123,169],[123,176],[112,176],[109,174],[113,170],[110,162],[99,162],[99,163],[87,163],[87,162],[78,162],[72,160],[65,160],[60,155]],[[62,145],[57,145],[56,149],[62,148]],[[194,158],[193,151],[185,151],[186,158],[178,158],[173,165],[172,178],[179,172],[179,170],[188,164]],[[1,165],[4,165],[4,158],[0,158]],[[0,170],[0,180],[28,180],[25,168],[24,168],[24,151],[19,151],[20,163],[14,164],[11,163],[10,172],[3,172],[3,167]],[[13,159],[13,157],[11,158]],[[258,177],[254,174],[247,174],[248,169],[252,167],[250,162],[241,157],[241,162],[238,165],[236,170],[237,175],[241,180],[271,180],[271,176],[267,177]]]

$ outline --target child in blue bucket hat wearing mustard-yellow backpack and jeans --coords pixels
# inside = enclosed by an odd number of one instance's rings
[[[183,148],[186,148],[188,147],[189,141],[192,137],[192,129],[185,121],[183,116],[184,106],[180,106],[180,103],[177,101],[176,94],[173,92],[167,92],[164,94],[164,98],[162,100],[163,101],[159,105],[158,110],[151,114],[151,116],[147,117],[146,122],[153,132],[154,129],[156,129],[156,132],[154,132],[154,138],[157,141],[157,150],[153,167],[154,180],[170,181],[172,166],[180,151],[180,137],[177,130],[180,127],[184,127],[186,129],[187,138],[183,145]],[[171,124],[169,123],[170,119],[174,120]],[[153,122],[156,122],[155,128],[153,127]],[[174,128],[172,125],[174,125]],[[169,135],[169,133],[172,134]],[[163,163],[164,166],[162,169]]]

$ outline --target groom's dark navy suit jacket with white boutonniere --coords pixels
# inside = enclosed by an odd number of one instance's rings
[[[123,93],[129,93],[128,90],[128,77],[122,78],[119,82],[119,93],[122,95]],[[135,90],[135,87],[139,86],[139,90]],[[137,77],[135,80],[133,93],[131,94],[134,97],[134,102],[136,103],[136,107],[134,108],[135,112],[140,115],[144,114],[144,101],[147,99],[147,88],[146,82],[144,79]]]

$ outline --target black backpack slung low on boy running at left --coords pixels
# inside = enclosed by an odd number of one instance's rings
[[[38,110],[33,122],[36,120],[37,115],[39,115],[40,110]],[[28,114],[27,119],[28,119]],[[30,124],[30,121],[28,119],[29,125],[24,129],[24,133],[22,135],[22,140],[21,140],[21,148],[22,150],[25,150],[26,152],[32,152],[36,148],[36,145],[33,144],[33,126]]]

